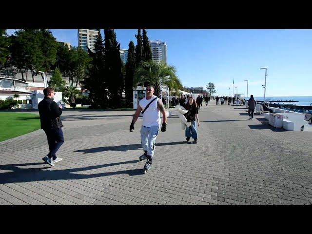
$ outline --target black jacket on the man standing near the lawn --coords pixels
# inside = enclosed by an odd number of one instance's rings
[[[62,109],[51,98],[44,97],[38,104],[40,124],[42,129],[58,129],[63,127],[60,115]]]

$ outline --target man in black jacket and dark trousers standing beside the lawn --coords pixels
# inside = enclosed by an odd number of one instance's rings
[[[62,132],[62,121],[60,115],[62,114],[62,106],[53,100],[54,90],[51,87],[43,90],[44,98],[38,104],[40,115],[41,128],[47,135],[49,144],[49,154],[43,157],[43,161],[54,166],[55,162],[59,162],[63,158],[57,157],[56,153],[64,143]]]

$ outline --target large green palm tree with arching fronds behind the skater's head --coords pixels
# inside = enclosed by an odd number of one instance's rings
[[[176,92],[182,89],[181,81],[176,76],[175,66],[153,60],[141,62],[134,75],[135,86],[147,84],[154,85],[156,96],[159,96],[160,86],[164,84],[167,84],[170,90],[174,88]]]

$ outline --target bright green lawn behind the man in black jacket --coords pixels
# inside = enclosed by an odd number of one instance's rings
[[[0,113],[0,141],[24,135],[39,128],[39,115],[28,113]]]

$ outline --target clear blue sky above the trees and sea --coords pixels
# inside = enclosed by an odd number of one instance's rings
[[[50,29],[58,41],[78,45],[77,29]],[[15,30],[8,30],[8,34]],[[120,48],[137,40],[136,29],[117,29]],[[101,29],[103,36],[103,30]],[[175,65],[185,87],[215,84],[219,96],[246,94],[263,97],[312,96],[312,30],[147,29],[150,40],[167,43],[167,63]],[[230,88],[230,89],[229,89]]]

